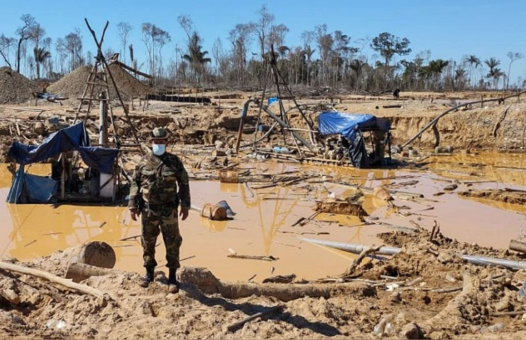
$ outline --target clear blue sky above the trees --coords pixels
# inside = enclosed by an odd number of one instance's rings
[[[106,47],[119,50],[116,24],[128,21],[134,30],[131,43],[135,55],[145,59],[140,41],[140,24],[155,23],[167,30],[172,42],[165,48],[165,56],[175,43],[181,45],[184,32],[178,26],[178,15],[189,15],[204,38],[206,50],[212,50],[217,37],[227,47],[228,31],[236,23],[256,20],[256,11],[263,4],[274,13],[276,23],[285,23],[290,32],[285,45],[301,43],[305,30],[326,23],[328,31],[341,30],[353,41],[374,37],[379,32],[391,32],[411,41],[413,55],[420,50],[431,50],[431,58],[455,59],[476,55],[480,59],[496,57],[500,68],[507,72],[509,51],[526,55],[524,22],[525,0],[36,0],[1,1],[0,34],[14,36],[25,13],[34,16],[46,28],[53,40],[64,37],[75,27],[81,28],[84,46],[95,50],[84,24],[87,17],[100,34],[106,20],[110,21]],[[254,45],[255,46],[255,45]],[[52,51],[53,52],[53,51]],[[367,51],[368,54],[370,51]],[[511,79],[526,76],[526,59],[516,62]]]

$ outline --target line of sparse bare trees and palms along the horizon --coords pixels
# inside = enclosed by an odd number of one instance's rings
[[[31,15],[21,16],[14,35],[0,35],[3,64],[35,79],[55,80],[75,68],[91,65],[95,55],[85,50],[78,28],[53,41]],[[134,28],[130,23],[117,24],[120,46],[115,46],[122,62],[153,75],[155,82],[168,86],[217,86],[224,88],[261,88],[267,81],[271,46],[285,80],[294,86],[346,88],[356,92],[381,92],[400,88],[404,91],[497,90],[526,85],[523,77],[509,81],[512,66],[524,56],[509,52],[507,70],[504,62],[490,57],[480,59],[466,55],[461,60],[432,59],[431,51],[411,54],[411,41],[389,32],[373,38],[351,39],[341,30],[329,32],[325,24],[301,34],[301,44],[290,46],[289,28],[276,23],[267,6],[257,12],[257,19],[238,23],[226,39],[214,41],[212,53],[203,49],[203,39],[191,18],[177,18],[185,32],[183,46],[171,43],[171,35],[154,23]],[[146,55],[135,56],[132,35],[138,31]],[[53,44],[54,42],[54,44]],[[366,48],[373,50],[367,55]],[[169,59],[162,51],[169,49]],[[104,50],[106,57],[115,51]]]

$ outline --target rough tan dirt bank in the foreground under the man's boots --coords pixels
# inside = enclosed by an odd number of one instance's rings
[[[0,272],[0,337],[379,338],[375,325],[382,319],[390,320],[386,321],[391,324],[390,337],[408,339],[416,339],[409,335],[411,330],[422,330],[420,337],[431,339],[520,338],[526,331],[519,321],[523,303],[518,299],[525,273],[471,265],[452,254],[520,259],[517,255],[458,243],[440,232],[432,242],[429,232],[379,237],[388,245],[402,246],[404,252],[364,263],[350,278],[358,282],[348,283],[330,278],[290,284],[225,283],[207,270],[183,267],[182,290],[173,295],[167,293],[163,272],[156,272],[156,281],[144,289],[138,285],[139,274],[115,270],[82,281],[107,294],[95,298],[30,276]],[[67,257],[66,250],[23,265],[62,275]],[[318,294],[326,288],[330,294]],[[292,294],[297,290],[310,290],[315,296]],[[287,292],[290,299],[264,293],[278,291]],[[283,305],[282,312],[246,323],[234,333],[226,330],[227,325],[278,304]],[[507,314],[513,311],[518,312]],[[495,327],[489,325],[500,323],[504,328],[491,334]]]

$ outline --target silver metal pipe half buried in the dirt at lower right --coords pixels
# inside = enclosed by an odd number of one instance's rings
[[[350,252],[354,254],[359,254],[363,252],[365,249],[370,248],[369,245],[359,245],[359,244],[354,244],[354,243],[341,243],[341,242],[316,240],[314,238],[303,238],[303,237],[299,237],[299,239],[309,242],[309,243],[314,243],[317,245],[324,245],[326,247],[331,247],[331,248],[343,250],[344,252]],[[375,252],[375,254],[396,255],[396,254],[400,254],[400,252],[402,252],[402,248],[381,247],[377,252]],[[500,265],[502,267],[507,267],[507,268],[515,269],[515,270],[526,269],[526,262],[524,261],[511,261],[511,260],[506,260],[505,258],[494,258],[494,257],[479,256],[479,255],[466,255],[466,254],[460,254],[460,253],[457,253],[456,255],[473,265]]]

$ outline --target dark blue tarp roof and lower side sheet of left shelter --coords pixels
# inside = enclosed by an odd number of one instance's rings
[[[42,162],[60,153],[77,150],[82,160],[101,173],[112,173],[118,149],[90,147],[89,139],[80,122],[49,135],[40,145],[14,142],[8,155],[20,164],[13,178],[7,201],[10,203],[48,203],[55,200],[57,181],[43,176],[25,173],[26,164]]]

